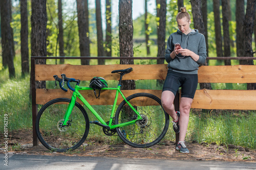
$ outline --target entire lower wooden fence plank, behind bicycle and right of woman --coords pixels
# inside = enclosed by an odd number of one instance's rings
[[[101,90],[100,99],[96,99],[93,90],[80,91],[91,105],[113,105],[115,90]],[[125,96],[138,92],[151,93],[161,99],[162,90],[122,90]],[[98,94],[98,93],[97,93]],[[71,92],[61,89],[36,89],[36,104],[44,105],[56,98],[71,98]],[[237,109],[256,110],[256,90],[197,90],[191,108],[198,109]],[[122,102],[121,96],[118,104]],[[78,99],[80,104],[81,101]]]

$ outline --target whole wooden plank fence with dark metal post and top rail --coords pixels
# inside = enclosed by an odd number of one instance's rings
[[[123,76],[122,80],[164,80],[167,74],[167,64],[152,65],[70,65],[70,64],[35,64],[40,57],[31,57],[31,87],[32,87],[32,118],[33,118],[33,144],[37,145],[34,125],[37,115],[37,104],[44,105],[56,98],[71,98],[70,92],[61,89],[36,89],[35,81],[54,81],[53,75],[66,74],[69,78],[81,81],[91,80],[93,76],[103,77],[105,80],[118,80],[119,74],[111,74],[112,70],[133,67],[133,71]],[[41,57],[44,59],[44,57]],[[45,57],[45,59],[49,57]],[[54,57],[51,57],[51,59]],[[60,59],[60,57],[56,57]],[[67,59],[65,57],[65,59]],[[70,59],[70,57],[68,58]],[[72,59],[81,59],[80,57]],[[90,58],[92,59],[92,58]],[[98,59],[98,58],[93,58]],[[116,58],[111,58],[116,59]],[[118,57],[118,59],[120,59]],[[156,59],[134,58],[134,59]],[[160,58],[163,59],[163,58]],[[208,58],[211,59],[211,58]],[[216,57],[212,59],[217,59]],[[218,58],[223,59],[223,58]],[[231,58],[233,59],[233,58]],[[247,59],[241,58],[240,59]],[[254,58],[253,58],[254,59]],[[256,83],[256,65],[232,65],[232,66],[201,66],[198,70],[199,83]],[[161,99],[162,90],[136,89],[122,90],[125,96],[137,92],[152,93]],[[96,100],[92,90],[82,90],[81,94],[91,105],[112,105],[115,91],[105,90],[101,92],[100,100]],[[113,99],[113,100],[109,100]],[[121,98],[119,98],[121,102]],[[179,93],[175,99],[176,110],[179,110]],[[196,91],[191,108],[200,109],[236,109],[256,110],[256,90],[208,90]],[[176,135],[176,141],[178,135]]]

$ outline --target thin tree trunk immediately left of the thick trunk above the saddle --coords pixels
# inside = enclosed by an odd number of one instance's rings
[[[106,57],[112,57],[111,0],[106,0]]]

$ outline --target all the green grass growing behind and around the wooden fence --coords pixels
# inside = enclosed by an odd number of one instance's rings
[[[139,52],[144,53],[144,52]],[[112,60],[113,61],[113,60]],[[114,61],[118,64],[118,60]],[[154,61],[137,61],[140,64],[151,64]],[[55,63],[55,60],[48,63]],[[79,64],[75,60],[69,60],[71,64]],[[96,61],[94,61],[96,64]],[[31,99],[29,97],[30,76],[26,75],[22,78],[20,72],[20,56],[15,58],[16,78],[9,79],[8,69],[0,68],[0,117],[1,122],[4,121],[4,114],[8,114],[8,131],[26,129],[32,130],[32,109]],[[111,64],[111,60],[106,63]],[[117,81],[108,81],[110,87],[116,86]],[[85,81],[82,85],[88,85]],[[54,87],[54,82],[47,83],[48,88]],[[214,84],[214,89],[226,89],[226,84]],[[141,89],[161,89],[156,86],[155,80],[136,81],[136,88]],[[244,84],[232,84],[233,89],[246,89]],[[105,117],[110,115],[108,106],[99,106],[95,109]],[[88,111],[88,110],[87,110]],[[88,111],[90,120],[96,120]],[[107,121],[107,120],[106,120]],[[211,113],[194,113],[191,112],[186,136],[187,141],[216,142],[217,144],[235,144],[242,145],[251,149],[256,148],[256,114],[255,111],[212,111]],[[0,129],[4,124],[0,123]],[[100,140],[106,143],[119,143],[119,137],[109,137],[102,133],[102,128],[96,125],[90,126],[88,140]],[[0,132],[3,134],[3,131]],[[165,139],[175,140],[175,134],[170,125]]]

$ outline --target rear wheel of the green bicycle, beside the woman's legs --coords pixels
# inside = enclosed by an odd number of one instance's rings
[[[136,148],[147,148],[158,143],[166,134],[169,126],[169,116],[164,111],[161,100],[148,93],[132,94],[126,100],[140,113],[142,120],[116,128],[119,137]],[[137,119],[137,114],[125,101],[122,101],[115,114],[115,124],[135,119]]]

